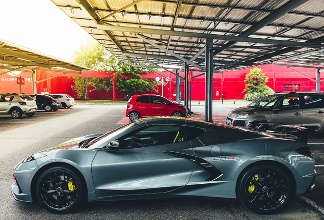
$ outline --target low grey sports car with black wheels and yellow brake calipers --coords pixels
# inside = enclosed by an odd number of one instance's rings
[[[307,194],[315,175],[310,148],[296,136],[161,117],[26,157],[11,192],[56,213],[83,201],[199,197],[269,214]]]

